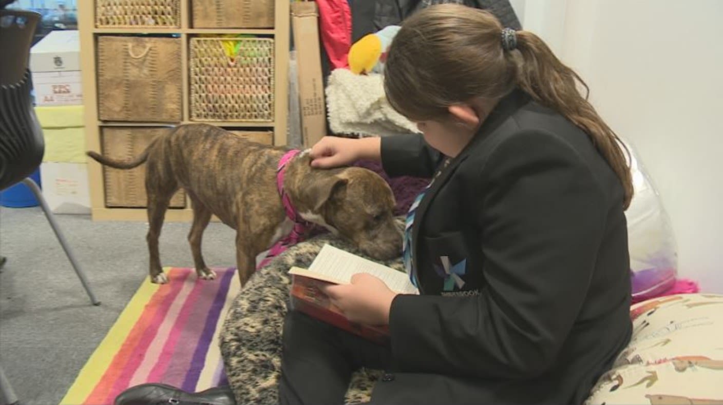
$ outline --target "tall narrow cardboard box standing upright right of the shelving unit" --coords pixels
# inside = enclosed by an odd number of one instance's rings
[[[315,1],[291,3],[301,103],[301,139],[311,147],[326,135],[326,105],[319,48],[319,9]]]

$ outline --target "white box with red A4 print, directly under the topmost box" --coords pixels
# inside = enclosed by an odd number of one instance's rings
[[[35,105],[80,105],[83,103],[80,71],[33,73]]]

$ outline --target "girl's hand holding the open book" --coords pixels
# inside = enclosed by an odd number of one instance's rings
[[[351,284],[328,285],[320,289],[349,321],[389,324],[389,310],[397,294],[377,277],[367,273],[354,274]]]

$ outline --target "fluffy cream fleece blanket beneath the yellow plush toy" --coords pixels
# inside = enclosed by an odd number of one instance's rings
[[[419,133],[414,123],[389,104],[381,74],[357,75],[348,69],[335,69],[326,86],[326,103],[329,126],[336,134]]]

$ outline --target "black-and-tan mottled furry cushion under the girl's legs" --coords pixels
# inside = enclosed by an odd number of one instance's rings
[[[403,217],[398,217],[400,229]],[[328,243],[364,256],[351,243],[330,234],[319,235],[291,246],[257,270],[236,296],[219,336],[221,355],[236,404],[278,404],[281,373],[281,331],[286,315],[291,266],[308,267]],[[385,263],[403,271],[401,258]],[[347,404],[369,401],[372,386],[381,370],[359,370],[346,396]]]

